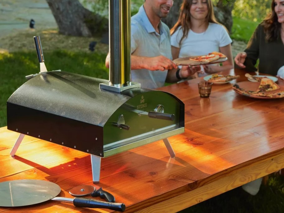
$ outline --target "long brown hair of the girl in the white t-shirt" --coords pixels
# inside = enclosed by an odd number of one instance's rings
[[[191,21],[191,15],[190,15],[190,7],[192,6],[193,0],[183,0],[181,8],[180,8],[180,14],[177,23],[173,26],[173,28],[170,30],[171,35],[175,31],[178,30],[179,26],[182,27],[182,39],[187,37],[188,31],[190,30],[190,21]],[[218,21],[216,21],[214,10],[213,10],[213,3],[211,0],[207,0],[207,9],[208,14],[206,16],[206,21],[211,23],[220,24]],[[179,41],[179,44],[181,44],[182,39]]]

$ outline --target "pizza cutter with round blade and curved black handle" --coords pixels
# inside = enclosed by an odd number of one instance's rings
[[[73,196],[84,196],[91,194],[93,197],[100,196],[101,198],[104,198],[108,202],[115,202],[115,197],[111,193],[104,191],[102,187],[96,190],[96,188],[93,186],[82,185],[82,186],[73,187],[72,189],[69,190],[69,193]]]

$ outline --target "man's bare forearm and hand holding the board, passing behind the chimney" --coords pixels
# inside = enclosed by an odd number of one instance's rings
[[[106,67],[109,68],[109,53],[106,58]],[[163,55],[156,57],[145,57],[145,56],[136,56],[131,55],[131,69],[148,69],[151,71],[155,70],[167,70],[167,69],[176,69],[177,65],[170,59],[166,58]]]

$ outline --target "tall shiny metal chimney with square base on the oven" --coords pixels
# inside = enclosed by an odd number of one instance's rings
[[[122,92],[140,88],[140,83],[130,82],[130,0],[109,0],[109,82],[100,88]]]

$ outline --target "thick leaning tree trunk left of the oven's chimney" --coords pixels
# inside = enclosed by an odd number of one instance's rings
[[[89,37],[107,31],[108,20],[84,8],[78,0],[46,0],[59,33]]]

